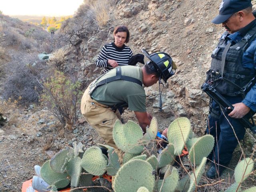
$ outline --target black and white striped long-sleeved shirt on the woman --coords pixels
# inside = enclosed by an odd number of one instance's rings
[[[100,54],[95,62],[97,67],[104,68],[104,73],[113,69],[112,66],[108,64],[108,60],[115,60],[118,65],[128,65],[129,60],[132,57],[132,50],[123,45],[121,48],[118,48],[114,42],[104,45],[100,51]]]

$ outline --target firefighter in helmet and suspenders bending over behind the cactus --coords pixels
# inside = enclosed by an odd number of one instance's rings
[[[158,52],[149,55],[150,59],[142,68],[136,66],[118,66],[94,80],[84,92],[81,111],[85,120],[96,129],[106,144],[117,149],[112,130],[116,120],[120,120],[120,107],[129,107],[146,132],[152,116],[146,112],[146,94],[142,84],[146,87],[156,84],[163,79],[165,82],[174,75],[176,66],[172,58]],[[116,150],[118,156],[121,151]]]

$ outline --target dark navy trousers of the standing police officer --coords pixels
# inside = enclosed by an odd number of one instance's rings
[[[231,104],[242,101],[242,98],[240,97],[226,97],[226,99],[228,99]],[[208,158],[217,164],[227,165],[230,163],[232,153],[238,144],[238,140],[244,138],[245,128],[238,119],[230,118],[228,112],[225,112],[224,110],[223,112],[224,114],[220,107],[213,101],[212,112],[208,116],[206,133],[210,133],[215,138],[213,151]],[[226,118],[228,118],[228,120]],[[236,133],[238,140],[234,132]],[[214,165],[214,163],[212,164]]]

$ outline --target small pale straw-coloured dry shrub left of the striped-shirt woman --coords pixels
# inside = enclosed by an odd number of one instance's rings
[[[66,64],[66,59],[66,52],[61,48],[53,53],[48,63],[54,65],[60,70],[63,70],[65,67],[64,65]]]

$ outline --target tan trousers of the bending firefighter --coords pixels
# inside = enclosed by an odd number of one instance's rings
[[[82,115],[84,116],[85,120],[94,129],[96,129],[106,144],[116,149],[115,152],[118,154],[119,160],[122,161],[122,151],[117,148],[112,136],[113,127],[116,120],[121,120],[120,112],[118,110],[114,112],[111,108],[107,108],[108,106],[94,101],[88,94],[89,87],[86,89],[82,97]]]

